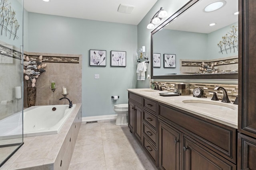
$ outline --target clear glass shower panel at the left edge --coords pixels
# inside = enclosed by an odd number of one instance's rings
[[[23,1],[0,0],[0,166],[23,144]]]

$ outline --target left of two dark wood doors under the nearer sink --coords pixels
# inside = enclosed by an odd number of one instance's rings
[[[158,121],[159,169],[180,169],[180,132],[170,125]]]

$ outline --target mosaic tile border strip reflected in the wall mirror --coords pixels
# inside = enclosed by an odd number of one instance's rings
[[[212,63],[215,63],[215,62],[217,63],[216,66],[226,65],[226,64],[238,64],[238,58],[212,61],[212,62],[205,61],[205,63],[207,63],[208,65],[211,65]],[[202,62],[182,61],[181,66],[202,66]]]

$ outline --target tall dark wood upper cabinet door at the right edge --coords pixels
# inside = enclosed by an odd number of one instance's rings
[[[256,1],[241,0],[239,14],[238,131],[256,138]],[[240,1],[239,1],[240,2]]]

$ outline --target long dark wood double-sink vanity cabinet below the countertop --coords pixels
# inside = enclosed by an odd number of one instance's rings
[[[158,169],[236,170],[237,129],[141,98],[142,114],[129,110],[129,127],[140,139],[136,121],[142,120],[142,146]],[[129,98],[129,109],[133,102]]]

